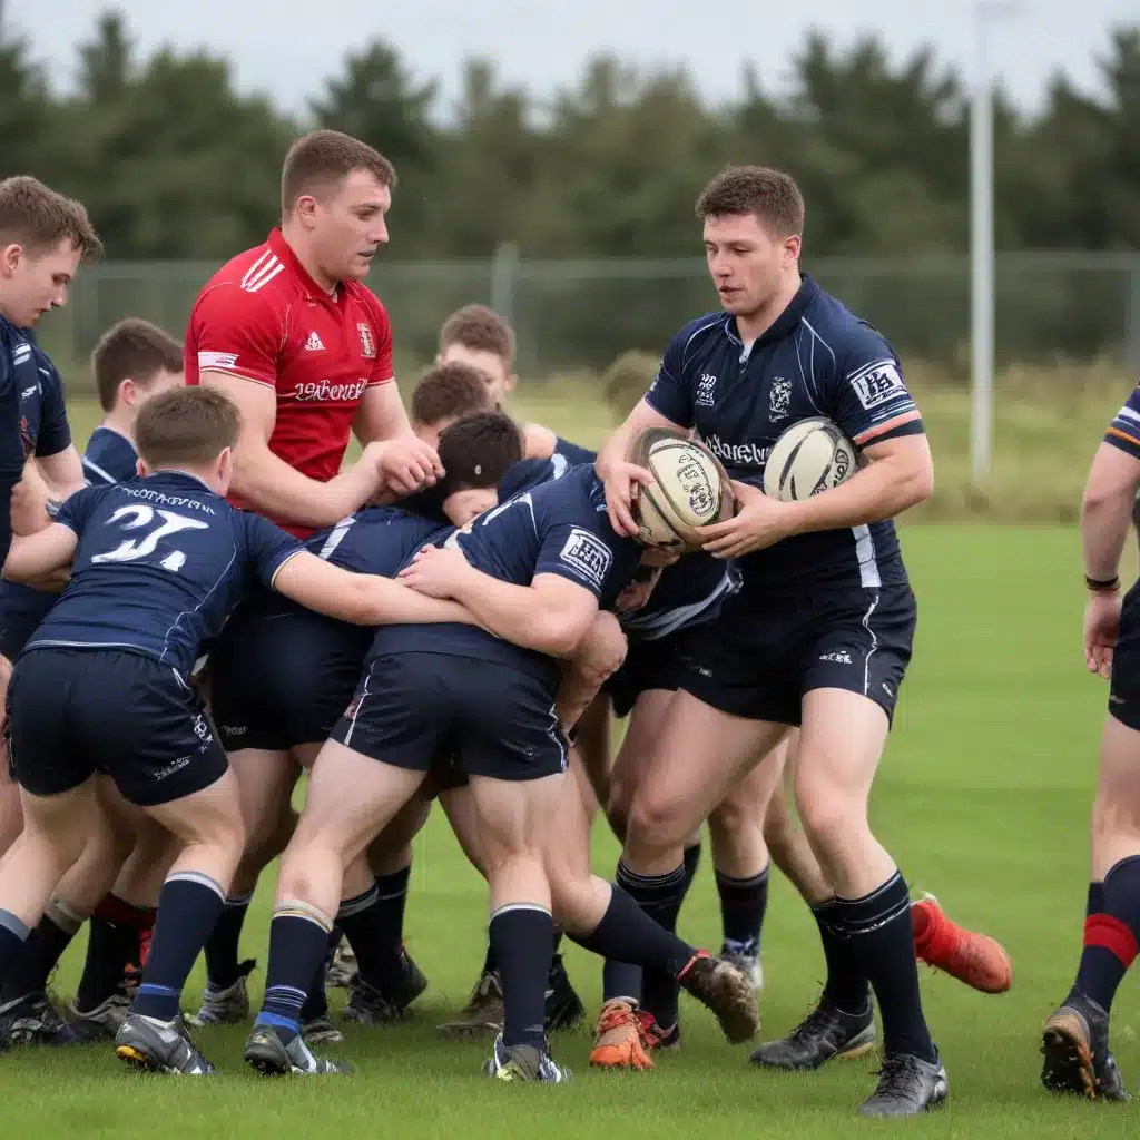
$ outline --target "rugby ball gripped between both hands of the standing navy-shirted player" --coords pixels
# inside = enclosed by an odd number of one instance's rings
[[[694,528],[732,518],[728,477],[702,443],[650,429],[634,446],[634,462],[653,477],[635,503],[640,538],[648,546],[698,548],[701,538]]]

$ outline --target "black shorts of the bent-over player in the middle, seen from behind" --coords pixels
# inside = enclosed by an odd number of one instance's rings
[[[499,661],[382,654],[332,739],[399,768],[539,780],[567,768],[554,697],[548,681]]]

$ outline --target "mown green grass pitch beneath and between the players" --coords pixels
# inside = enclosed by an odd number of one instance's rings
[[[597,420],[577,421],[578,437],[596,438],[595,426],[597,433],[605,426],[601,414]],[[556,418],[552,426],[565,429]],[[76,434],[85,438],[79,424]],[[1040,1026],[1068,988],[1081,942],[1086,821],[1106,699],[1104,684],[1084,674],[1080,659],[1076,534],[931,524],[906,528],[903,540],[919,597],[919,634],[877,784],[876,826],[912,888],[935,891],[954,915],[1005,943],[1017,980],[1009,994],[993,997],[923,974],[951,1100],[936,1115],[894,1127],[937,1137],[1124,1135],[1134,1109],[1058,1101],[1037,1082]],[[602,828],[595,842],[595,866],[609,873],[617,848]],[[681,930],[716,944],[719,917],[707,864],[706,857]],[[266,877],[244,947],[262,969],[269,893]],[[577,1070],[573,1084],[489,1082],[479,1076],[483,1049],[445,1044],[433,1034],[441,1015],[465,1000],[484,926],[481,880],[433,816],[417,841],[407,922],[409,948],[431,986],[413,1007],[410,1024],[348,1033],[336,1052],[357,1062],[355,1077],[259,1081],[241,1065],[241,1031],[199,1035],[220,1068],[204,1082],[133,1077],[106,1048],[22,1053],[0,1061],[0,1134],[119,1137],[158,1125],[186,1138],[290,1130],[306,1137],[569,1140],[613,1130],[620,1137],[759,1132],[814,1140],[891,1127],[853,1116],[873,1086],[873,1061],[795,1077],[752,1070],[748,1049],[725,1044],[711,1017],[691,1002],[683,1007],[682,1052],[660,1059],[653,1073],[591,1072],[583,1034],[555,1042],[556,1054]],[[78,945],[68,953],[57,979],[62,993],[72,992],[82,952]],[[600,963],[570,947],[568,964],[596,1011]],[[767,1037],[799,1020],[823,976],[814,923],[779,876],[764,966]],[[255,990],[262,979],[259,970]],[[199,967],[187,1005],[202,984]],[[1140,991],[1126,982],[1114,1044],[1133,1081],[1140,1073],[1138,1001]]]

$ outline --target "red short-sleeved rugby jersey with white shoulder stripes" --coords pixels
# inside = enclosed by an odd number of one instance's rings
[[[269,450],[327,482],[344,459],[365,389],[392,378],[392,331],[376,295],[359,282],[326,293],[274,229],[238,254],[198,294],[186,333],[186,382],[223,372],[277,392]],[[231,495],[237,506],[247,506]],[[299,537],[310,528],[275,519]]]

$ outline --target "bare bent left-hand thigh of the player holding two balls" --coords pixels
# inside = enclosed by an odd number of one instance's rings
[[[627,841],[636,833],[640,845],[682,844],[784,730],[782,724],[733,716],[689,692],[677,693],[634,792]]]

